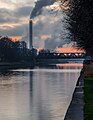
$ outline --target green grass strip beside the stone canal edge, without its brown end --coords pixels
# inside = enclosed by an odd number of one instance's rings
[[[84,120],[93,120],[93,77],[89,75],[84,78],[84,102]]]

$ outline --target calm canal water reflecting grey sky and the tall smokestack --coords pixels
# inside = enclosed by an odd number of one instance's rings
[[[0,73],[0,120],[63,120],[82,65]]]

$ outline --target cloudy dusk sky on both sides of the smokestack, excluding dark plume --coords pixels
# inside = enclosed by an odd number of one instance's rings
[[[58,13],[59,10],[55,8],[51,12],[53,5],[55,6],[51,1],[40,0],[35,6],[36,0],[0,0],[0,35],[13,36],[14,39],[22,39],[29,43],[28,25],[30,13],[34,9],[33,13],[38,11],[33,17],[34,46],[54,49],[64,44],[68,45],[68,31],[64,22],[62,23],[64,15],[62,11]]]

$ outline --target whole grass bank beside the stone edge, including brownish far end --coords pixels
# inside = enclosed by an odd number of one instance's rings
[[[93,65],[84,66],[84,120],[93,120]]]

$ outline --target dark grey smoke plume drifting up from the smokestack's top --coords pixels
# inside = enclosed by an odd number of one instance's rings
[[[52,5],[55,0],[38,0],[35,4],[34,9],[32,10],[30,18],[34,18],[42,14],[42,8],[48,5]]]

